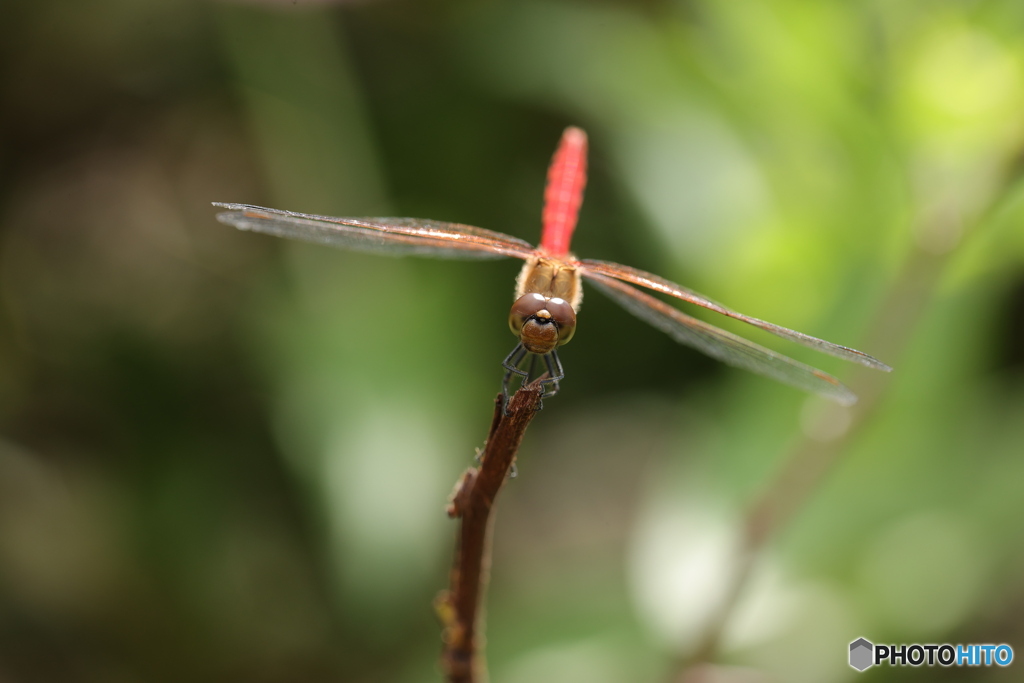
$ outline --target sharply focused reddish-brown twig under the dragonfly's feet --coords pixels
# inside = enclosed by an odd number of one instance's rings
[[[434,607],[444,625],[441,667],[452,683],[486,679],[479,630],[481,595],[489,568],[490,511],[515,463],[522,435],[541,404],[542,392],[540,381],[519,389],[509,401],[508,415],[502,411],[502,395],[498,395],[480,465],[463,473],[449,503],[449,517],[461,518],[462,524],[451,585],[437,597]]]

